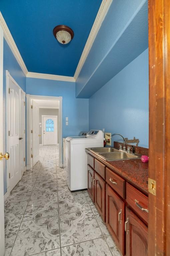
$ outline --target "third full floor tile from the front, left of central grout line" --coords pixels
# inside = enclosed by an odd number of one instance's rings
[[[57,196],[57,184],[34,187],[30,199],[49,198]]]

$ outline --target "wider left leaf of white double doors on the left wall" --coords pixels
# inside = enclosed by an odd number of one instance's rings
[[[12,77],[8,76],[7,97],[8,97],[8,146],[7,150],[10,159],[7,162],[9,176],[8,193],[20,180],[20,89]]]

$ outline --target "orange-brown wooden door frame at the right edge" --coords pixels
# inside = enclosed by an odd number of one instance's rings
[[[148,255],[170,253],[170,1],[149,0]]]

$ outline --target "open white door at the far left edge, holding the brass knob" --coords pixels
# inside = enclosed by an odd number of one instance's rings
[[[3,30],[0,26],[0,109],[3,109]],[[0,114],[0,152],[3,153],[3,111]],[[3,160],[0,161],[0,256],[5,254],[4,230],[4,177]]]

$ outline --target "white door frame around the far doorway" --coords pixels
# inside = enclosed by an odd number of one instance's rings
[[[26,94],[26,138],[27,138],[27,164],[26,169],[29,170],[31,167],[31,100],[56,100],[59,101],[59,115],[58,115],[58,143],[59,143],[59,167],[63,167],[63,156],[62,156],[62,96],[42,96],[42,95],[30,95]],[[56,107],[58,108],[58,106]]]

